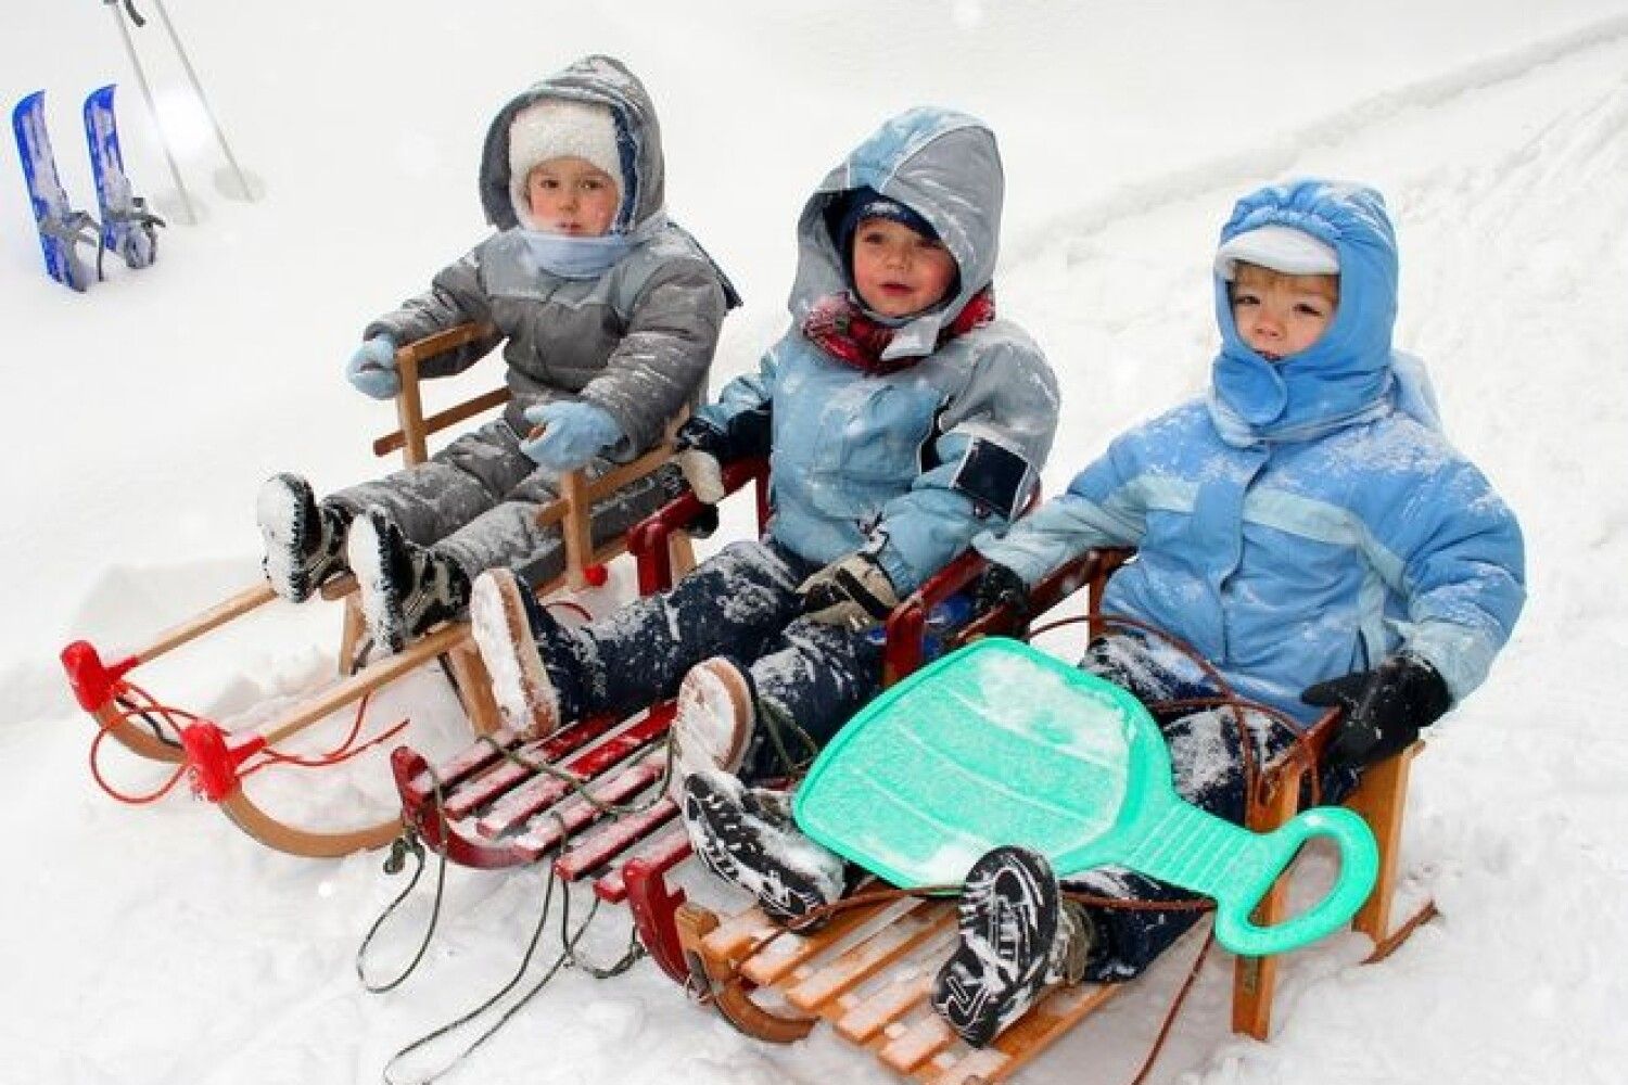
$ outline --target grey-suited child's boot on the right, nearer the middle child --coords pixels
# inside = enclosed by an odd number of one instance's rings
[[[374,644],[399,652],[430,626],[464,617],[464,571],[451,558],[409,542],[384,512],[368,509],[358,516],[347,550]]]

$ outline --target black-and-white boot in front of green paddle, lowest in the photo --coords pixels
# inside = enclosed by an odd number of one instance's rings
[[[996,848],[972,864],[957,906],[959,945],[933,979],[933,1009],[974,1048],[1040,996],[1079,983],[1096,942],[1084,908],[1061,900],[1044,856]]]

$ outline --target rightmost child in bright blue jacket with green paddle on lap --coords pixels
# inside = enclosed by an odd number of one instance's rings
[[[1237,714],[1171,703],[1270,709],[1244,714],[1257,765],[1293,742],[1289,722],[1345,709],[1322,774],[1338,800],[1481,683],[1525,597],[1524,553],[1511,511],[1439,433],[1423,369],[1392,350],[1397,247],[1377,192],[1301,181],[1244,197],[1214,291],[1208,395],[1117,438],[1004,537],[982,535],[977,607],[1021,605],[1088,550],[1135,548],[1102,612],[1213,670],[1112,626],[1081,665],[1153,709],[1184,799],[1242,821]],[[1187,898],[1122,869],[1070,887]],[[933,1005],[988,1043],[1057,983],[1138,974],[1195,917],[1063,901],[1042,856],[1000,848],[965,878]]]

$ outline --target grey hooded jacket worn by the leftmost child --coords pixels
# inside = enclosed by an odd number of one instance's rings
[[[599,278],[570,280],[540,268],[514,218],[508,130],[514,115],[544,98],[606,106],[625,156],[625,192],[612,229],[650,236]],[[500,233],[441,270],[428,293],[379,317],[363,337],[407,343],[466,320],[497,335],[425,364],[425,376],[462,373],[506,340],[505,418],[524,434],[527,407],[581,399],[617,420],[624,441],[612,459],[651,447],[667,420],[700,402],[733,288],[679,226],[661,223],[661,129],[643,85],[609,57],[588,57],[498,111],[480,163],[480,200]]]

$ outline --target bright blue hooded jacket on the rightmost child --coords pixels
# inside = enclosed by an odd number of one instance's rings
[[[1486,478],[1398,407],[1397,249],[1369,189],[1302,181],[1242,202],[1221,241],[1281,223],[1340,257],[1340,304],[1273,364],[1237,335],[1206,400],[1115,439],[1068,491],[978,550],[1027,582],[1092,547],[1136,547],[1104,610],[1197,647],[1247,698],[1299,719],[1312,682],[1407,649],[1454,699],[1485,678],[1525,599],[1521,529]]]

